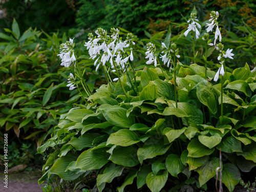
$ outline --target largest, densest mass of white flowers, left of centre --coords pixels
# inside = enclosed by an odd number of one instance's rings
[[[133,60],[133,53],[129,56],[125,56],[124,49],[130,46],[130,42],[135,45],[133,41],[133,35],[128,34],[127,39],[123,42],[119,38],[119,30],[111,29],[112,35],[108,35],[107,32],[101,28],[98,28],[95,33],[98,35],[97,38],[93,36],[92,33],[88,34],[88,42],[85,42],[84,46],[87,47],[89,51],[90,58],[96,59],[94,61],[94,66],[97,65],[96,71],[98,70],[100,64],[105,66],[106,62],[110,62],[111,68],[114,68],[114,65],[120,66],[125,71],[125,63],[130,60]],[[129,44],[127,44],[127,42]],[[99,61],[99,62],[98,62]],[[115,70],[113,70],[115,71]]]

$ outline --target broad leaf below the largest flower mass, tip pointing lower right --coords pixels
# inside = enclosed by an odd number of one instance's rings
[[[129,128],[135,123],[134,116],[126,116],[127,110],[124,108],[113,108],[110,105],[110,109],[103,110],[103,116],[107,121],[112,123],[113,125]]]

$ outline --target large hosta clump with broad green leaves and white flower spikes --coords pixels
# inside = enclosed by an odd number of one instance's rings
[[[61,115],[52,138],[38,148],[41,154],[51,148],[39,184],[55,177],[86,178],[91,184],[96,178],[88,189],[103,191],[111,183],[116,191],[131,184],[136,190],[176,191],[206,189],[221,174],[232,191],[242,173],[255,168],[255,69],[244,63],[226,72],[225,59],[233,55],[222,44],[216,46],[217,73],[196,63],[186,65],[178,60],[177,45],[166,38],[161,55],[147,44],[141,56],[147,66],[135,71],[132,34],[124,41],[118,29],[111,35],[101,28],[95,33],[85,46],[108,83]],[[72,60],[74,47],[68,47],[61,62],[76,69],[69,79],[69,87],[76,89],[83,80],[79,63]],[[171,65],[170,71],[163,64]]]

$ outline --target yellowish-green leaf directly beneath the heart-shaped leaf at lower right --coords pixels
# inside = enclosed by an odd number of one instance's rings
[[[196,138],[192,139],[187,145],[188,156],[189,157],[203,157],[205,155],[210,155],[214,152],[214,148],[209,149],[200,143]]]

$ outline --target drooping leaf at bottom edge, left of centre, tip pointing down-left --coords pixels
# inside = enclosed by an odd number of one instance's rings
[[[111,183],[115,177],[118,177],[122,174],[123,169],[124,169],[124,166],[120,166],[120,165],[111,163],[110,166],[108,166],[104,169],[103,174],[98,175],[98,177],[97,177],[98,188],[102,183]],[[102,190],[100,190],[100,192],[101,191]]]

